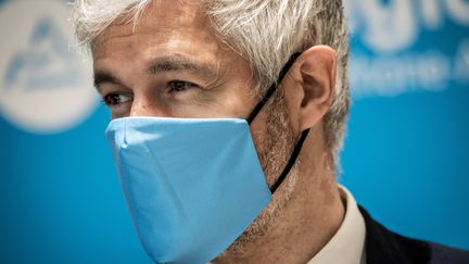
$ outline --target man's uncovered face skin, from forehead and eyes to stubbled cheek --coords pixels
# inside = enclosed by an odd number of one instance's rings
[[[113,23],[92,43],[97,87],[113,118],[248,117],[258,100],[249,64],[219,41],[200,3],[154,1],[136,26],[126,22]],[[271,186],[294,141],[281,97],[272,98],[251,131]],[[265,231],[291,188],[278,192],[238,246]]]

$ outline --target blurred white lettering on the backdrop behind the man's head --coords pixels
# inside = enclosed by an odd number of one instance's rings
[[[345,3],[353,38],[359,34],[377,55],[352,54],[350,70],[355,97],[439,91],[448,88],[452,81],[468,84],[469,38],[452,43],[454,50],[440,48],[439,43],[445,39],[439,37],[424,43],[430,47],[427,50],[411,48],[422,32],[441,36],[442,30],[451,35],[452,27],[468,28],[469,1],[346,0]]]

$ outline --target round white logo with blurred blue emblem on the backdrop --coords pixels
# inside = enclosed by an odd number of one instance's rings
[[[97,105],[91,65],[74,48],[65,1],[10,1],[0,8],[0,114],[33,133],[77,125]]]

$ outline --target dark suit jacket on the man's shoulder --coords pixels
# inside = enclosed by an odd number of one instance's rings
[[[469,264],[469,251],[403,237],[373,221],[363,208],[359,210],[367,231],[367,264]]]

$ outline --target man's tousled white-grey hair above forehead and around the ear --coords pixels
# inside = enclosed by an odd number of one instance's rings
[[[152,0],[76,0],[74,24],[89,46],[117,17],[137,23]],[[206,0],[207,15],[221,41],[249,61],[263,96],[294,52],[327,45],[337,52],[332,105],[325,116],[326,146],[335,163],[348,114],[347,30],[341,0]]]

